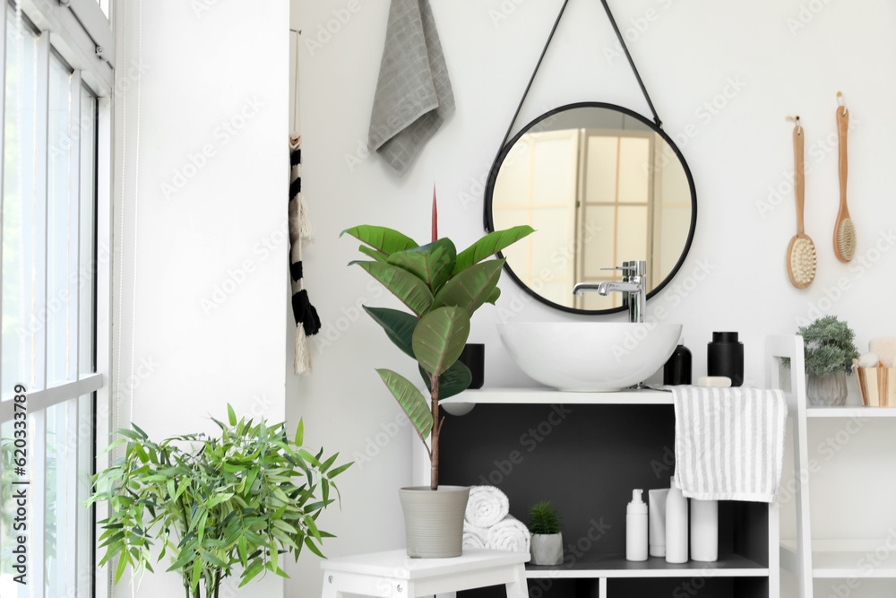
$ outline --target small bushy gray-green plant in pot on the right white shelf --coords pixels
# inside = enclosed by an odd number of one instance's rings
[[[852,372],[852,360],[858,350],[853,343],[856,333],[836,316],[818,318],[799,328],[806,356],[806,397],[810,404],[842,405],[848,394],[846,377]],[[789,360],[785,360],[789,367]]]

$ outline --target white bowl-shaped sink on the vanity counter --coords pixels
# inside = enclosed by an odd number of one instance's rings
[[[543,385],[614,391],[643,382],[671,357],[680,324],[511,322],[498,332],[513,360]]]

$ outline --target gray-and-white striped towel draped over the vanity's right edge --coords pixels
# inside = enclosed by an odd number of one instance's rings
[[[675,479],[687,498],[776,502],[787,403],[780,390],[671,386]]]

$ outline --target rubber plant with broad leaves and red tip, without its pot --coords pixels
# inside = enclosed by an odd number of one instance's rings
[[[391,369],[376,370],[426,446],[432,490],[439,486],[439,434],[444,421],[439,401],[470,386],[470,369],[458,361],[470,335],[470,316],[485,303],[494,305],[501,294],[497,283],[506,260],[487,258],[532,232],[529,226],[497,230],[458,253],[451,239],[438,237],[434,192],[431,243],[421,246],[398,230],[381,226],[361,225],[340,234],[365,243],[358,250],[371,258],[349,265],[363,268],[410,310],[364,306],[389,340],[417,360],[429,391],[427,401],[406,377]]]

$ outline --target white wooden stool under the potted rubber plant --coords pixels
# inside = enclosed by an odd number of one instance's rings
[[[410,559],[404,549],[327,559],[321,562],[323,598],[453,596],[488,585],[505,585],[507,598],[529,598],[527,560],[528,552],[484,549],[464,549],[454,559]]]

